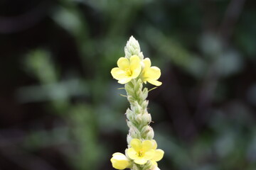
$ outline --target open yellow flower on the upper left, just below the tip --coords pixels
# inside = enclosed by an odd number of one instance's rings
[[[119,84],[126,84],[132,79],[139,76],[142,71],[139,57],[133,55],[129,59],[125,57],[119,58],[117,66],[111,70],[112,77],[118,80]]]

